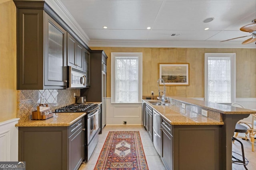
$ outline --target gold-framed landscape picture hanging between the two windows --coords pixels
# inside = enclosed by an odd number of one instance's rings
[[[160,85],[189,86],[189,63],[159,63]]]

